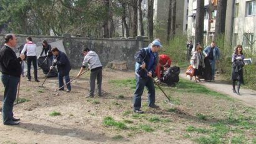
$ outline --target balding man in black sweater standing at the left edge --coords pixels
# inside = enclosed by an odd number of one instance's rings
[[[4,125],[18,125],[20,119],[13,117],[13,103],[16,99],[17,84],[21,77],[21,60],[25,55],[17,58],[14,47],[17,39],[14,34],[7,34],[4,37],[5,44],[0,50],[0,71],[2,72],[2,84],[4,84],[4,100],[2,104],[2,121]]]

